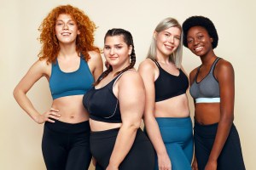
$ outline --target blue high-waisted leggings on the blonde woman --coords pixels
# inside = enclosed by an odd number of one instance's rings
[[[172,170],[191,170],[193,157],[193,129],[190,117],[156,117]],[[155,161],[155,170],[158,161]]]

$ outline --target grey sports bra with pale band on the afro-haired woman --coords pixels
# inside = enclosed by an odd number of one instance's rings
[[[215,65],[219,59],[221,58],[215,59],[212,63],[211,70],[201,82],[196,82],[201,66],[198,67],[195,81],[192,83],[189,90],[191,96],[195,99],[195,103],[218,103],[220,101],[218,81],[213,75]]]

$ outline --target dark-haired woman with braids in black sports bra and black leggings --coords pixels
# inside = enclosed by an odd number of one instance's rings
[[[145,92],[133,68],[136,55],[131,33],[108,30],[103,52],[108,70],[83,99],[90,114],[90,150],[96,170],[153,170],[154,148],[140,128]]]

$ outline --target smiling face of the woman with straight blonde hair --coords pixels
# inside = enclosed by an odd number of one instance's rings
[[[181,30],[170,27],[164,31],[154,32],[157,55],[169,56],[178,48],[181,38]]]

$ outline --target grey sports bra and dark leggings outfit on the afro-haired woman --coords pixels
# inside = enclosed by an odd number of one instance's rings
[[[201,66],[195,75],[195,81],[190,88],[190,94],[195,99],[195,103],[219,103],[219,85],[213,75],[215,65],[220,58],[215,59],[207,77],[201,82],[196,82]],[[207,113],[206,113],[207,114]],[[218,123],[211,125],[201,125],[195,120],[194,139],[195,139],[195,156],[197,159],[198,169],[204,170],[210,156],[212,145],[214,143]],[[224,144],[223,150],[218,156],[218,170],[243,170],[245,165],[241,154],[241,144],[234,123],[230,128],[230,134]]]

